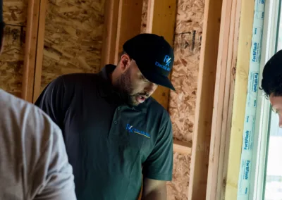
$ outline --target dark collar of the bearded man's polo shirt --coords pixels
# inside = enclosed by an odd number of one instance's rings
[[[99,95],[101,97],[107,97],[116,94],[114,87],[111,85],[111,73],[114,72],[116,65],[105,65],[104,68],[98,73],[98,76],[101,79],[101,84],[98,85]],[[142,113],[147,113],[147,99],[144,103],[139,104],[138,106],[130,107],[133,110],[140,111]]]

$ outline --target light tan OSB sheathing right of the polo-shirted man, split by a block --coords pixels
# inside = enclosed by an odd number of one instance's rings
[[[143,3],[141,32],[146,31],[147,0]],[[195,122],[197,76],[200,62],[204,0],[178,0],[171,73],[176,92],[170,93],[169,113],[175,139],[192,142]],[[173,181],[168,182],[168,199],[188,199],[190,156],[174,153]]]

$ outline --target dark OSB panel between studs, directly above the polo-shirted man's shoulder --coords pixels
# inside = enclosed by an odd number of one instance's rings
[[[41,89],[59,75],[100,70],[105,0],[49,0]]]

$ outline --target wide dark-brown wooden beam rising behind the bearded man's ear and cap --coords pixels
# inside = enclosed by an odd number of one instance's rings
[[[119,0],[115,63],[118,63],[123,44],[131,37],[140,34],[142,5],[143,0]]]

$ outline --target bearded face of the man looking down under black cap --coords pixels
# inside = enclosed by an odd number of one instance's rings
[[[128,67],[118,77],[116,86],[130,106],[142,104],[158,87],[142,75],[134,60],[128,61]]]

